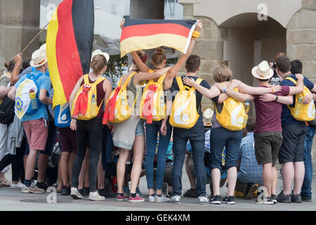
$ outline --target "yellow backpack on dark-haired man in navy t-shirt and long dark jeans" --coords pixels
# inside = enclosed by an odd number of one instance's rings
[[[195,88],[192,86],[186,90],[183,86],[181,77],[176,77],[179,86],[179,92],[173,101],[172,113],[170,115],[170,124],[172,127],[190,129],[197,123],[199,113],[197,112],[197,97],[195,96]],[[202,79],[196,80],[197,84]]]

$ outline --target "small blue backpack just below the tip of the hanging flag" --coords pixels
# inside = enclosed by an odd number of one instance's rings
[[[69,103],[55,106],[55,126],[59,128],[70,127],[72,117],[70,115]]]

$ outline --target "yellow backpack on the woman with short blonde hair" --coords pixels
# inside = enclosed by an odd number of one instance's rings
[[[238,89],[235,88],[234,91],[238,91]],[[216,110],[216,119],[222,127],[229,129],[230,131],[242,130],[246,118],[244,103],[237,101],[232,97],[228,97],[223,102],[223,110],[220,113],[218,113],[215,103],[214,108]]]

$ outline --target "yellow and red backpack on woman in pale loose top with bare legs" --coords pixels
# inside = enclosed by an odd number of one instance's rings
[[[107,99],[107,106],[105,108],[105,114],[103,117],[103,124],[107,124],[108,121],[111,123],[124,122],[125,120],[131,117],[131,111],[136,103],[137,96],[133,103],[133,106],[129,108],[129,102],[127,101],[127,91],[126,87],[129,84],[129,81],[135,75],[136,72],[132,72],[131,75],[126,79],[124,84],[121,84],[121,79],[119,79],[119,84],[117,88],[112,91],[109,99]]]

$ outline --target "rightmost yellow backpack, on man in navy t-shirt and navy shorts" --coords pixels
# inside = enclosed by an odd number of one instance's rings
[[[286,77],[285,79],[289,79],[295,85],[297,83],[295,79],[291,77]],[[307,105],[301,103],[301,101],[303,101],[303,98],[305,96],[308,96],[310,93],[310,90],[306,86],[304,86],[303,92],[300,94],[296,94],[295,96],[294,108],[291,108],[289,105],[287,105],[289,107],[289,110],[291,111],[291,115],[294,117],[295,120],[311,121],[315,119],[314,101],[310,101],[310,103]]]

